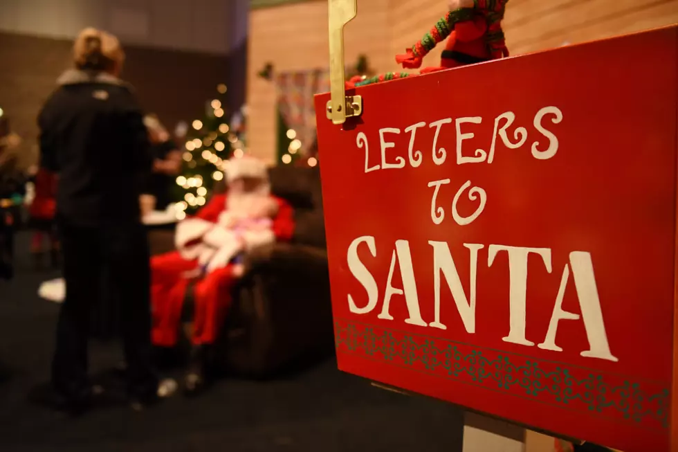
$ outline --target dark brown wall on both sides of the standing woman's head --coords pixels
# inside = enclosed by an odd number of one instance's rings
[[[37,114],[59,75],[72,65],[72,45],[63,39],[0,33],[0,107],[24,138],[22,168],[37,163]],[[125,46],[125,54],[123,78],[134,85],[142,107],[158,114],[170,131],[180,120],[203,116],[217,84],[239,78],[230,70],[228,56],[134,46]],[[234,105],[230,98],[228,105]]]

